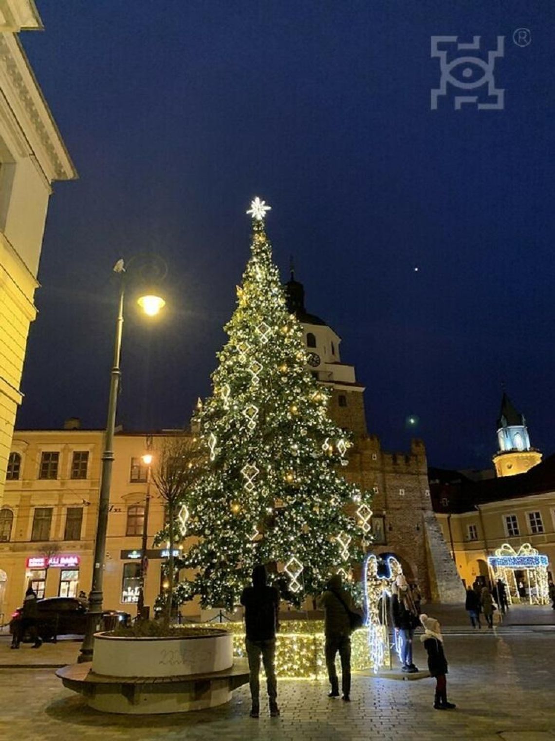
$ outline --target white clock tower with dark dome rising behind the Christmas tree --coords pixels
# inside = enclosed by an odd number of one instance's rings
[[[309,369],[322,385],[332,390],[329,416],[336,425],[353,431],[355,435],[366,435],[364,386],[357,383],[354,366],[341,362],[340,336],[319,316],[306,311],[304,287],[295,280],[293,268],[285,289],[287,308],[303,325],[305,347],[309,352]]]

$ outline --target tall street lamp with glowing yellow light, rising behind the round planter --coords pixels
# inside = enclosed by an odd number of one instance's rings
[[[129,261],[128,265],[131,264]],[[106,558],[106,534],[108,510],[110,508],[110,483],[112,480],[112,462],[114,460],[113,441],[115,431],[115,411],[118,404],[118,388],[121,376],[121,336],[124,329],[124,295],[126,268],[123,259],[114,265],[114,273],[120,278],[118,318],[115,322],[115,342],[112,371],[110,371],[110,395],[108,396],[108,416],[104,434],[104,452],[102,453],[100,494],[98,495],[98,519],[96,522],[95,554],[92,562],[92,585],[89,594],[89,612],[87,614],[87,632],[81,645],[78,662],[90,661],[94,644],[94,634],[100,629],[102,617],[102,581],[104,577],[104,560]],[[148,299],[148,300],[147,300]],[[141,296],[138,304],[148,316],[155,316],[165,305],[164,299],[158,296]]]

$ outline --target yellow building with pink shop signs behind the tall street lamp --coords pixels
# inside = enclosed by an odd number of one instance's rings
[[[9,621],[30,583],[38,597],[77,597],[81,591],[88,596],[90,591],[104,433],[70,426],[75,428],[16,431],[13,436],[0,509],[0,622]],[[154,455],[163,437],[153,436]],[[164,502],[155,485],[147,482],[147,466],[141,460],[146,450],[144,434],[115,436],[104,608],[126,610],[132,616],[148,487],[144,604],[151,607],[151,614],[167,555],[153,545],[155,534],[164,527]],[[193,602],[182,612],[199,610]]]

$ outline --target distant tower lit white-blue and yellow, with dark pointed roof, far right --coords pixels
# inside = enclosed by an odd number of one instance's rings
[[[515,476],[526,473],[542,460],[542,453],[532,448],[523,414],[503,391],[501,411],[497,420],[499,451],[493,456],[497,476]]]

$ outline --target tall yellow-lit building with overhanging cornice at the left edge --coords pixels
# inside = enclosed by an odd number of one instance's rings
[[[41,29],[32,0],[0,1],[0,503],[52,183],[76,176],[18,39]]]

